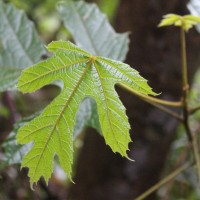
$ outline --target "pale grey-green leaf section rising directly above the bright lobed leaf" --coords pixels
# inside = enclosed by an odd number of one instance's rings
[[[58,4],[58,11],[78,46],[93,55],[119,61],[125,59],[128,34],[116,33],[95,4],[68,0]]]

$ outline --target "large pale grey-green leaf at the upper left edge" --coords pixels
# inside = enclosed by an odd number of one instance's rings
[[[12,4],[0,1],[0,91],[13,88],[21,70],[38,62],[44,52],[33,23]]]

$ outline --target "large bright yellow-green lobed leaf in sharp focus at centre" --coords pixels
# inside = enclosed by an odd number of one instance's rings
[[[90,96],[97,103],[106,144],[127,157],[130,126],[114,86],[120,83],[143,94],[154,94],[146,80],[127,64],[95,57],[70,42],[52,42],[48,50],[54,53],[53,57],[25,69],[18,82],[22,92],[33,92],[54,80],[64,83],[60,95],[17,134],[20,144],[34,142],[22,163],[22,167],[29,167],[31,185],[41,176],[48,182],[55,154],[71,177],[73,130],[84,98]]]

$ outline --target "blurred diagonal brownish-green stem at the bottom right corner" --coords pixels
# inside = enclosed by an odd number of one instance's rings
[[[189,164],[189,163],[186,163],[186,164],[182,165],[181,167],[179,167],[178,169],[176,169],[175,171],[173,171],[171,174],[169,174],[167,177],[165,177],[164,179],[162,179],[161,181],[159,181],[157,184],[155,184],[154,186],[152,186],[151,188],[149,188],[147,191],[145,191],[144,193],[142,193],[135,200],[142,200],[142,199],[148,197],[150,194],[152,194],[153,192],[155,192],[157,189],[159,189],[165,183],[167,183],[168,181],[170,181],[173,178],[175,178],[178,174],[180,174],[181,172],[183,172],[184,170],[186,170],[190,166],[191,166],[191,164]]]

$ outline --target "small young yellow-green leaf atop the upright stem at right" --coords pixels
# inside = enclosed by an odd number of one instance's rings
[[[164,19],[158,25],[159,27],[162,26],[179,26],[184,28],[185,31],[191,29],[194,25],[200,23],[200,17],[192,16],[192,15],[175,15],[175,14],[167,14],[163,17]]]

